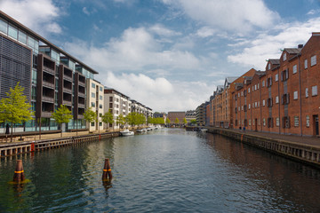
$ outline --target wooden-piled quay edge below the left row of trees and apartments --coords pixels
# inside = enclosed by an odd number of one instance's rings
[[[0,145],[0,157],[27,154],[45,149],[60,148],[63,146],[71,146],[85,142],[97,141],[102,138],[111,138],[117,136],[119,136],[119,132],[106,132],[68,138],[53,138],[19,143],[5,143]]]

